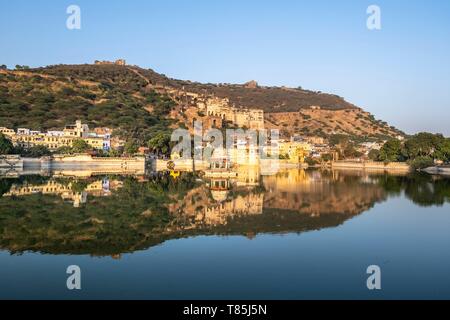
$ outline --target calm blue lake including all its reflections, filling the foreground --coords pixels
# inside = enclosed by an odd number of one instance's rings
[[[442,177],[29,176],[0,195],[2,299],[450,299]]]

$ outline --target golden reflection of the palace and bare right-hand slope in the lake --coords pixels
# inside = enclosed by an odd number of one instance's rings
[[[169,211],[186,218],[184,229],[226,226],[274,210],[311,218],[337,215],[345,220],[386,199],[377,181],[368,174],[303,169],[261,177],[257,167],[247,168],[233,179],[207,180],[169,206]]]

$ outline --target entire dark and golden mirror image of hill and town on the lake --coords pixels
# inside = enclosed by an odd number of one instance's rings
[[[450,201],[450,180],[428,175],[289,170],[198,181],[20,177],[0,180],[0,249],[118,256],[193,235],[287,233],[334,227],[404,193],[421,206]]]

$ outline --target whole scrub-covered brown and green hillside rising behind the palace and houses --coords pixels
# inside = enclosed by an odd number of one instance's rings
[[[88,64],[0,70],[0,126],[47,130],[81,119],[91,127],[108,126],[119,136],[145,142],[156,132],[189,124],[188,115],[197,114],[198,98],[208,96],[263,109],[266,127],[284,135],[402,134],[335,95],[261,87],[254,81],[201,84],[136,66]]]

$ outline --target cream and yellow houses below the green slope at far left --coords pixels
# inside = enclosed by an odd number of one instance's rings
[[[50,151],[56,151],[61,147],[72,147],[76,140],[83,140],[96,150],[109,151],[111,149],[111,130],[108,128],[96,128],[89,130],[87,124],[80,120],[73,125],[66,126],[63,130],[57,131],[35,131],[27,128],[13,129],[0,127],[0,133],[9,138],[15,146],[25,149],[34,146],[45,146]]]

